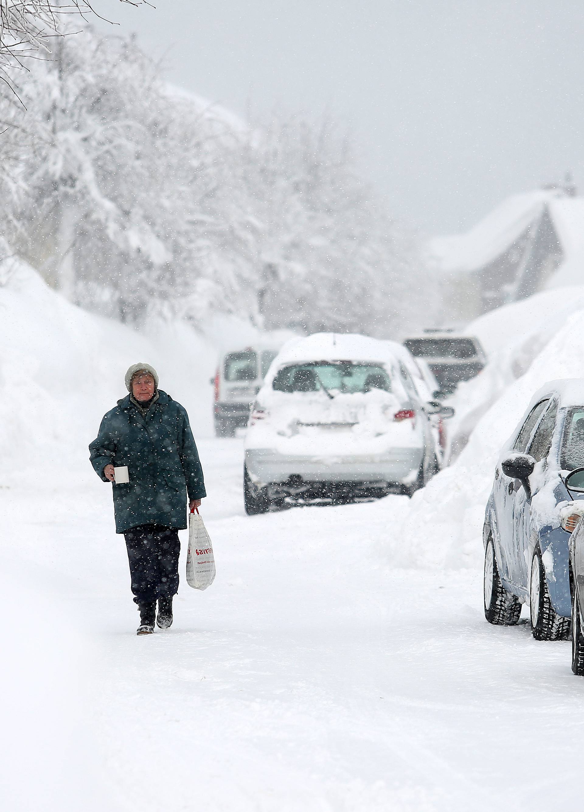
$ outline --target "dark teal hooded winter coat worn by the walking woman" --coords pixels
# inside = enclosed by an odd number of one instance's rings
[[[130,482],[112,485],[116,533],[138,525],[187,527],[189,499],[205,494],[203,469],[187,411],[158,392],[143,416],[130,395],[108,412],[89,446],[93,468],[104,482],[107,464],[127,465]]]

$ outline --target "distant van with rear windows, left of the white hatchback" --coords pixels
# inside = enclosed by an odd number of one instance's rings
[[[247,425],[251,404],[282,343],[267,339],[266,343],[256,342],[253,347],[221,354],[217,373],[211,378],[217,437],[234,437],[238,428]]]

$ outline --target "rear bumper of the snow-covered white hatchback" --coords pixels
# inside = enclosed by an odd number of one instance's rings
[[[423,448],[393,448],[379,456],[284,456],[271,449],[247,449],[247,473],[259,487],[269,484],[376,483],[376,487],[410,485],[423,460]],[[372,485],[371,485],[372,486]]]

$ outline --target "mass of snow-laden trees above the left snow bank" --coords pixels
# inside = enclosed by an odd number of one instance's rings
[[[414,240],[335,124],[246,127],[124,38],[59,37],[0,97],[0,212],[68,298],[125,321],[222,311],[399,335],[431,297]]]

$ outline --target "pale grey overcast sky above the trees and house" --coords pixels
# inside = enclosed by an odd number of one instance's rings
[[[428,233],[568,169],[584,190],[582,0],[93,4],[166,54],[169,80],[238,114],[350,124],[363,174]]]

